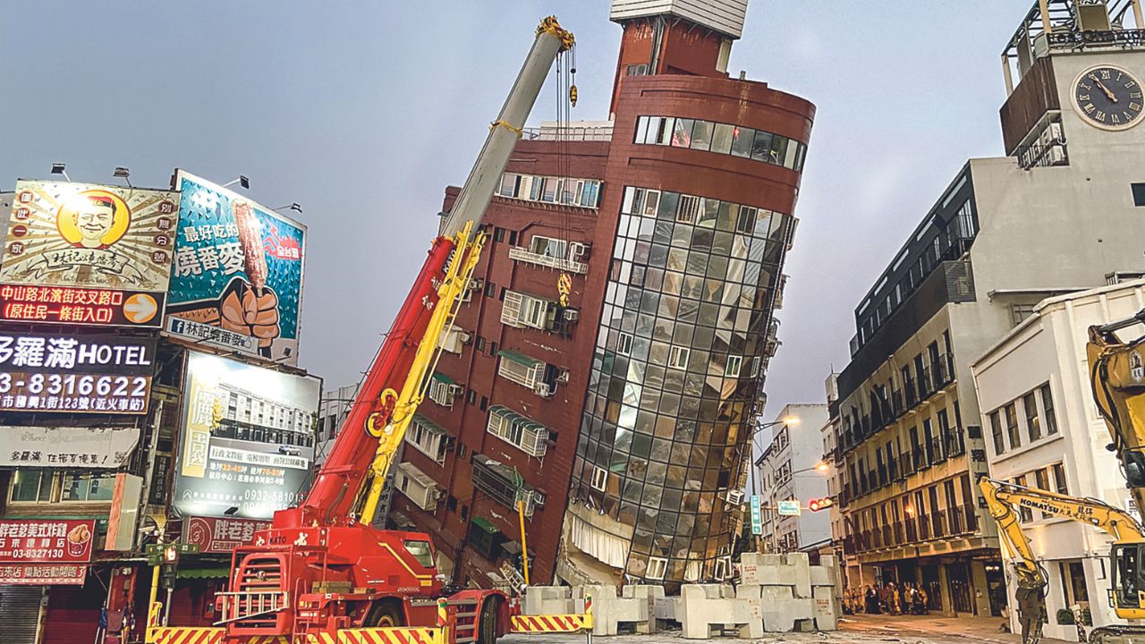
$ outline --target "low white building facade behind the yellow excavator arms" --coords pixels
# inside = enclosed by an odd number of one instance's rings
[[[1130,508],[1111,437],[1090,393],[1087,329],[1145,308],[1145,281],[1049,298],[979,358],[971,369],[986,427],[990,477]],[[1138,325],[1123,338],[1145,333]],[[1120,622],[1106,600],[1110,547],[1097,528],[1025,510],[1022,529],[1049,574],[1045,636],[1072,638],[1058,612],[1088,607],[1093,626]],[[1005,561],[1012,605],[1013,566]],[[1011,615],[1017,633],[1017,616]]]

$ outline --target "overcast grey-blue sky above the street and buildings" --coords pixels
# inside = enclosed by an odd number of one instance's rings
[[[853,311],[969,157],[1002,154],[1000,54],[1032,0],[751,0],[729,71],[818,105],[768,414],[822,402]],[[605,0],[6,2],[0,188],[251,178],[309,227],[301,366],[356,382],[532,41],[577,37],[577,119],[607,118]],[[551,120],[550,86],[532,121]]]

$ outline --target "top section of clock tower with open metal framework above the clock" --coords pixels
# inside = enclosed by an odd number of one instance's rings
[[[1096,171],[1145,144],[1140,2],[1037,0],[1026,14],[1002,55],[1002,138],[1021,167]]]

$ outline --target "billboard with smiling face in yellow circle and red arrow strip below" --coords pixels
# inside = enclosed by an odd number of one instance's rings
[[[0,319],[158,327],[177,217],[168,190],[17,181]]]

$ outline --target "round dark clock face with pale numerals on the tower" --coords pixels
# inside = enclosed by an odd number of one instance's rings
[[[1128,129],[1142,120],[1142,86],[1128,71],[1099,65],[1083,71],[1073,87],[1074,109],[1095,127]]]

